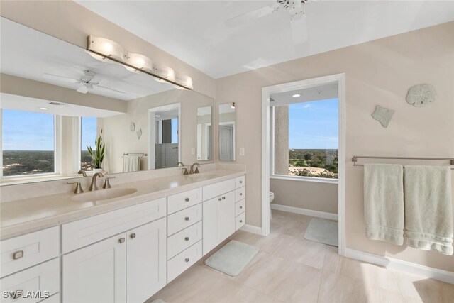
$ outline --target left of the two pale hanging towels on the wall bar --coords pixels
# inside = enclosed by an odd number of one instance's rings
[[[404,181],[402,165],[364,165],[366,236],[404,243]]]

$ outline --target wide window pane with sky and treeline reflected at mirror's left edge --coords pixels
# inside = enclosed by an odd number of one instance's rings
[[[2,110],[2,174],[4,177],[57,171],[55,116]]]

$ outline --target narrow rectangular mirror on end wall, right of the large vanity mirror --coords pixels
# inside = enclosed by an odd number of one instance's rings
[[[235,103],[219,105],[219,160],[235,161]]]

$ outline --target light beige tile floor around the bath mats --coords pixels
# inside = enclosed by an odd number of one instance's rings
[[[304,240],[310,220],[273,210],[270,236],[231,236],[260,248],[240,275],[199,262],[148,302],[454,302],[454,285],[343,258],[335,247]]]

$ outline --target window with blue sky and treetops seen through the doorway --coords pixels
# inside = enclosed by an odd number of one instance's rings
[[[338,179],[338,99],[272,107],[274,173]]]

